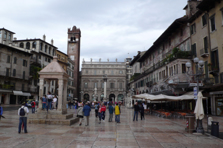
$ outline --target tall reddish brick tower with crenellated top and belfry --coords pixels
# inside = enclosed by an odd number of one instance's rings
[[[78,98],[81,31],[79,28],[76,28],[76,26],[73,26],[73,28],[68,28],[67,34],[67,55],[72,61],[74,61],[74,98]]]

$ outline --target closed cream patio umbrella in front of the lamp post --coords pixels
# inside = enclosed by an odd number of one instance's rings
[[[196,114],[196,119],[202,120],[204,118],[204,108],[203,108],[203,95],[201,92],[198,93],[197,103],[195,106],[194,113]]]

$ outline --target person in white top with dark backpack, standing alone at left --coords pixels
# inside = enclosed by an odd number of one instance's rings
[[[22,123],[24,125],[24,132],[27,132],[27,116],[29,114],[29,109],[28,107],[25,106],[25,103],[22,104],[21,108],[19,108],[18,110],[18,115],[19,115],[19,130],[18,133],[21,133],[21,126]]]

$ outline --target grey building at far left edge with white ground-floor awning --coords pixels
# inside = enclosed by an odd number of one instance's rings
[[[31,50],[15,46],[14,33],[0,29],[0,102],[21,104],[31,96],[29,88]]]

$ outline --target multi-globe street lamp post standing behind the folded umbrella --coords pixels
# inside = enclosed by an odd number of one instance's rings
[[[195,67],[196,67],[196,73],[195,74],[189,74],[189,69],[191,68],[191,63],[187,62],[186,63],[186,67],[188,68],[188,72],[187,74],[189,76],[194,76],[196,77],[197,80],[197,95],[199,92],[199,80],[200,77],[203,75],[203,66],[204,66],[204,61],[203,60],[199,60],[199,58],[194,58],[194,63],[195,63]],[[197,103],[197,101],[196,101]],[[197,119],[197,127],[196,127],[197,133],[204,133],[204,128],[202,126],[202,120]]]

